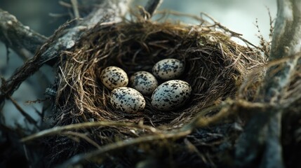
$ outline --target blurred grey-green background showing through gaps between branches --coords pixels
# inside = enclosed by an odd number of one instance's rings
[[[132,6],[133,8],[138,5],[144,6],[145,3],[146,0],[134,0]],[[0,8],[15,15],[24,25],[44,36],[51,36],[55,29],[69,19],[69,13],[72,13],[62,7],[58,1],[49,0],[1,0]],[[257,38],[259,33],[255,26],[256,20],[260,34],[269,40],[270,23],[267,8],[270,10],[272,19],[276,18],[276,0],[164,0],[159,10],[175,10],[198,16],[201,12],[207,13],[225,27],[243,34],[243,38],[258,45],[260,40]],[[170,15],[170,19],[192,25],[199,24],[190,18]],[[9,52],[8,57],[7,52]],[[7,51],[4,43],[0,41],[0,76],[8,79],[24,61],[15,55],[13,50]],[[43,104],[27,104],[26,102],[44,99],[44,92],[50,83],[53,83],[53,69],[44,65],[38,73],[22,83],[12,97],[32,118],[39,120],[41,111],[44,111]],[[0,110],[4,115],[0,118],[1,123],[9,127],[32,127],[11,101],[6,100],[4,108]]]

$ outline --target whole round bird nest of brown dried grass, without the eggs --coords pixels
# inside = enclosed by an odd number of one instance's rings
[[[219,111],[211,107],[234,97],[247,73],[265,62],[258,49],[232,41],[229,32],[216,26],[145,20],[100,24],[87,31],[72,50],[60,55],[53,85],[57,91],[54,125],[83,125],[47,139],[51,163],[81,153],[86,153],[78,156],[89,160],[89,165],[106,167],[208,166],[220,162],[218,156],[208,155],[217,153],[213,146],[223,144],[221,135],[235,132],[233,125],[224,120],[219,127],[194,134],[185,129],[198,123],[195,118],[200,113],[209,122]],[[180,79],[192,86],[185,106],[159,111],[149,96],[145,96],[145,109],[138,113],[124,113],[109,104],[110,90],[100,81],[102,69],[118,66],[131,76],[135,71],[151,72],[152,66],[165,58],[185,62]],[[225,136],[231,139],[232,135]],[[203,148],[197,148],[202,141]],[[229,144],[219,150],[232,148]]]

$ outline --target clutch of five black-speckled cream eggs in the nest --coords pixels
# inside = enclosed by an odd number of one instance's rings
[[[178,80],[185,71],[184,62],[179,59],[162,59],[154,64],[152,73],[137,71],[128,78],[123,69],[108,66],[102,69],[100,80],[112,90],[109,102],[120,111],[135,113],[145,109],[145,97],[151,97],[154,108],[170,111],[183,106],[192,93],[189,83]],[[163,80],[158,85],[158,80]],[[129,83],[129,87],[127,87]]]

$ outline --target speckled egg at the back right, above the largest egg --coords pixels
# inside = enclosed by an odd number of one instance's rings
[[[181,76],[184,70],[184,62],[181,62],[179,59],[168,58],[154,64],[152,73],[162,80],[171,80]]]

